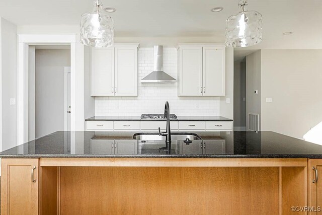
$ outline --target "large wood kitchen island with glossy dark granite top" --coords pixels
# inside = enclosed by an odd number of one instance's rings
[[[269,131],[197,133],[169,151],[134,132],[97,131],[4,151],[2,214],[305,214],[291,207],[322,205],[322,146]]]

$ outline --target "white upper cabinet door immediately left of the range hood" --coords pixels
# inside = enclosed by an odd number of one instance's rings
[[[137,96],[137,48],[115,47],[115,96]]]

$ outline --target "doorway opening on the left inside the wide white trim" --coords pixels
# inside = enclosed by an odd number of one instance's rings
[[[29,45],[28,140],[70,130],[70,45]]]

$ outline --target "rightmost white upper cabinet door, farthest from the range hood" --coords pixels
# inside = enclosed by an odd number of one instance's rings
[[[203,47],[203,96],[225,95],[225,47]]]

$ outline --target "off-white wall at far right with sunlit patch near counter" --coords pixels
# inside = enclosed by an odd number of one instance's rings
[[[262,130],[303,138],[322,121],[322,50],[262,50],[261,62]]]

